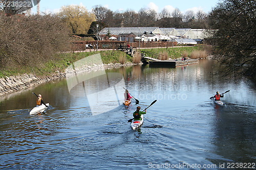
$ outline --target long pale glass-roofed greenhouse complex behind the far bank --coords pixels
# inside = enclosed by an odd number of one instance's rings
[[[176,29],[176,28],[159,28],[159,27],[121,27],[121,28],[104,28],[99,32],[101,37],[111,35],[117,37],[118,41],[173,41],[176,38],[179,43],[192,43],[195,39],[201,42],[202,39],[209,37],[210,33],[206,29]]]

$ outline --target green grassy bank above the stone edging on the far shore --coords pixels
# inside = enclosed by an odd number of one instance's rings
[[[167,52],[170,58],[180,58],[184,53],[190,55],[193,51],[202,50],[200,46],[184,46],[184,47],[169,47],[169,48],[150,48],[143,49],[143,51],[151,51],[155,53]],[[100,53],[102,62],[104,64],[109,63],[120,63],[120,57],[126,56],[125,62],[133,62],[132,57],[126,55],[121,51],[98,51],[98,52],[82,52],[82,53],[63,53],[55,56],[55,59],[52,59],[45,63],[38,62],[34,67],[28,66],[12,66],[6,67],[5,69],[0,70],[0,78],[5,76],[13,76],[19,74],[35,74],[37,76],[43,75],[52,75],[56,71],[64,71],[69,65],[78,61],[84,57],[88,57],[94,54]],[[38,60],[39,61],[39,60]]]

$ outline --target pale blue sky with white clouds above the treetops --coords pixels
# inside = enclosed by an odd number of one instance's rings
[[[127,9],[139,11],[141,8],[155,9],[157,12],[161,12],[163,8],[168,9],[172,12],[175,8],[180,9],[182,13],[187,10],[193,10],[197,12],[202,10],[206,13],[210,12],[213,7],[218,4],[219,0],[158,0],[158,1],[145,1],[145,0],[127,0],[127,1],[102,1],[102,0],[40,0],[40,11],[41,12],[58,12],[62,6],[67,5],[83,5],[89,11],[95,5],[102,5],[112,11],[126,11]],[[36,11],[36,7],[32,9]]]

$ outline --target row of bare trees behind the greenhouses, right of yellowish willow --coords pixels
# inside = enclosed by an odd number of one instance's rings
[[[96,21],[106,27],[163,27],[163,28],[206,28],[207,14],[203,11],[187,11],[182,14],[176,8],[172,13],[163,9],[157,13],[153,9],[141,8],[138,12],[126,10],[116,11],[96,5],[92,12]]]

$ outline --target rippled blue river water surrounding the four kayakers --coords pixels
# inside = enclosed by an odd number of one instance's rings
[[[255,89],[214,68],[110,69],[2,97],[0,169],[255,169]],[[140,103],[122,105],[122,87]],[[230,90],[224,106],[209,100],[217,90]],[[29,115],[32,92],[50,103],[46,114]],[[132,130],[136,107],[154,100]]]

